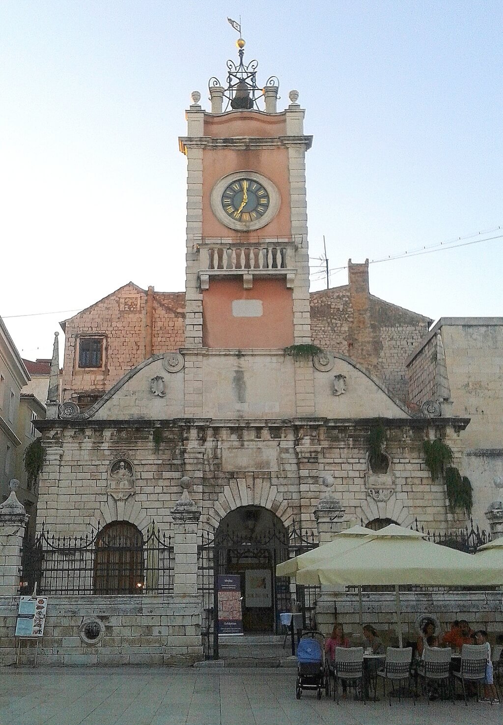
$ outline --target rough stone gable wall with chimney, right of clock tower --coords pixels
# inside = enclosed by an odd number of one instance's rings
[[[405,363],[431,320],[370,294],[368,260],[352,264],[349,284],[311,293],[312,342],[348,355],[407,402]]]

